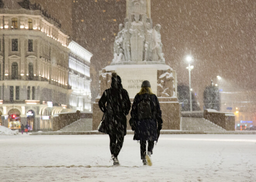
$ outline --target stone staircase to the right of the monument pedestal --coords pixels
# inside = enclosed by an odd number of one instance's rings
[[[223,132],[226,130],[203,117],[181,117],[181,131]]]

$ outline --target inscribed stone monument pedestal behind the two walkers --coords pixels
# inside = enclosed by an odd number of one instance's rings
[[[122,79],[123,88],[131,102],[140,91],[144,80],[149,80],[151,89],[157,95],[162,110],[163,129],[180,129],[181,109],[177,99],[176,71],[164,64],[109,65],[100,74],[100,96],[111,86],[111,74],[115,71]],[[102,119],[99,109],[100,97],[93,104],[93,130],[97,130]],[[127,116],[127,121],[130,114]],[[127,129],[131,129],[129,123]]]

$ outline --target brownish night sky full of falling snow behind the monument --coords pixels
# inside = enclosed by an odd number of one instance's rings
[[[114,33],[125,18],[125,0],[56,0],[60,4],[55,6],[49,6],[51,3],[45,0],[36,1],[52,9],[74,41],[93,53],[91,77],[95,96],[96,75],[113,58]],[[153,24],[162,26],[163,53],[166,63],[177,71],[179,84],[189,82],[185,56],[194,56],[192,88],[201,104],[204,87],[212,78],[216,82],[217,75],[236,88],[255,90],[256,1],[151,0],[151,14]]]

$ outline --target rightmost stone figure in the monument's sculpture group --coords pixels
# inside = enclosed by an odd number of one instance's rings
[[[160,34],[161,25],[157,24],[153,30],[153,47],[152,47],[152,57],[154,61],[165,61],[164,55],[162,53],[162,41]]]

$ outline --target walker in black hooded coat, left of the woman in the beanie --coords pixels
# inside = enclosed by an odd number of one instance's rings
[[[123,89],[121,78],[115,72],[112,73],[111,80],[111,88],[104,91],[99,100],[99,107],[102,112],[106,112],[105,121],[110,138],[110,151],[114,165],[119,165],[117,156],[126,135],[126,116],[129,114],[131,101],[128,92]]]

